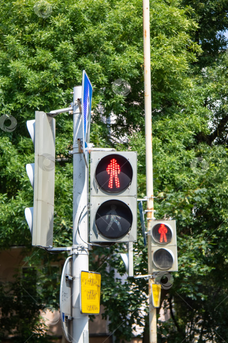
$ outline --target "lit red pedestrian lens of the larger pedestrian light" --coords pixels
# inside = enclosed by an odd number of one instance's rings
[[[106,192],[119,193],[131,183],[133,171],[130,162],[122,155],[109,154],[98,163],[95,177]]]

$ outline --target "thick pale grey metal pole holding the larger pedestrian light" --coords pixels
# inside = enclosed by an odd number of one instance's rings
[[[85,166],[81,140],[83,138],[81,104],[82,86],[74,87],[73,97],[73,290],[72,290],[72,342],[88,343],[88,316],[80,312],[80,273],[88,271],[88,170]]]

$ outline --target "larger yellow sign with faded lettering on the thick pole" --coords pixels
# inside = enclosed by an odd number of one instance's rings
[[[81,272],[81,312],[98,315],[100,312],[101,274]]]

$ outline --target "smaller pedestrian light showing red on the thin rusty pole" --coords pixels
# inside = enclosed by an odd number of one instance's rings
[[[176,221],[151,221],[153,271],[178,271]]]

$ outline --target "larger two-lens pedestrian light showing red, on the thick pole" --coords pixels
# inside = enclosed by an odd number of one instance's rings
[[[137,151],[91,151],[90,242],[137,241]]]

